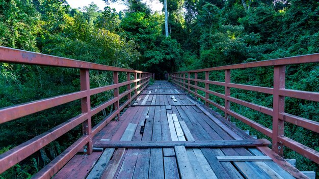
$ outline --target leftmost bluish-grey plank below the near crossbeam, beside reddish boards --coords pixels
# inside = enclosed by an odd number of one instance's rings
[[[111,157],[113,156],[114,151],[115,151],[115,148],[105,148],[103,154],[98,159],[98,161],[94,165],[93,169],[91,170],[91,172],[89,173],[89,175],[86,178],[88,178],[88,179],[100,178],[102,173],[105,170],[105,166],[108,165]]]

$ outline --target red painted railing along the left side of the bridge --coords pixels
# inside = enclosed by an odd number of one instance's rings
[[[62,58],[57,56],[50,56],[40,53],[33,53],[28,51],[16,50],[6,47],[0,47],[0,63],[17,63],[26,65],[42,65],[42,66],[55,66],[76,68],[80,71],[81,91],[70,93],[66,95],[56,96],[43,100],[33,101],[15,106],[9,106],[0,109],[0,124],[13,121],[19,117],[23,117],[35,112],[59,106],[74,100],[81,99],[82,113],[71,118],[70,120],[58,125],[51,130],[26,141],[12,150],[0,155],[0,173],[6,171],[13,165],[21,162],[25,158],[31,156],[45,145],[56,140],[58,137],[67,133],[74,127],[83,125],[83,136],[69,146],[62,154],[56,159],[52,160],[48,165],[41,169],[35,177],[50,178],[57,173],[78,151],[83,148],[85,153],[91,154],[93,150],[92,138],[96,135],[105,125],[107,125],[114,117],[120,118],[120,111],[123,110],[130,102],[137,97],[138,94],[148,85],[149,79],[152,77],[151,73],[123,69],[117,67],[110,67],[83,61],[76,61],[74,59]],[[113,71],[114,84],[102,86],[97,88],[90,88],[90,70]],[[127,73],[127,80],[119,83],[119,72]],[[130,79],[131,73],[134,74],[134,80]],[[139,74],[139,75],[138,75]],[[140,84],[138,84],[138,82]],[[133,88],[131,85],[134,83]],[[119,87],[127,86],[127,90],[119,94]],[[92,95],[102,93],[105,91],[114,90],[114,97],[98,106],[91,107],[90,97]],[[131,96],[131,92],[134,95]],[[127,96],[122,105],[119,101]],[[115,110],[99,122],[95,127],[91,127],[91,117],[99,111],[114,105]]]

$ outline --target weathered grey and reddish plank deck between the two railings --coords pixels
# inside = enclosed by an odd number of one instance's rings
[[[55,178],[294,178],[256,148],[267,142],[207,110],[156,81],[94,137],[103,152],[74,156]]]

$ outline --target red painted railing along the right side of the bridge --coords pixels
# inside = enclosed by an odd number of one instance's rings
[[[319,102],[319,93],[317,92],[306,92],[306,91],[297,91],[297,90],[288,90],[285,88],[285,66],[293,64],[304,64],[304,63],[317,63],[319,62],[319,53],[302,55],[295,57],[287,57],[280,59],[272,59],[268,61],[260,61],[253,63],[229,65],[222,67],[206,68],[200,70],[191,70],[183,71],[177,73],[171,73],[170,77],[172,81],[188,91],[189,93],[195,95],[196,97],[205,101],[206,105],[211,104],[216,108],[224,111],[225,118],[228,116],[233,116],[238,120],[244,122],[245,124],[253,127],[259,132],[267,135],[272,138],[272,149],[279,155],[283,155],[283,145],[291,148],[291,150],[296,151],[297,153],[307,157],[308,159],[319,163],[319,152],[309,148],[293,139],[290,139],[284,136],[284,122],[288,122],[300,127],[303,127],[307,130],[319,133],[319,123],[315,121],[308,120],[306,118],[288,114],[284,111],[285,97],[310,100]],[[274,83],[273,87],[261,87],[261,86],[252,86],[244,84],[231,83],[230,72],[234,69],[246,69],[254,67],[273,67],[274,68]],[[225,82],[220,81],[211,81],[209,80],[210,71],[225,71]],[[205,73],[205,80],[198,79],[198,73]],[[191,78],[191,74],[194,73],[195,78]],[[185,74],[188,74],[188,77],[185,78]],[[187,82],[185,82],[187,80]],[[195,85],[192,85],[190,82],[194,81]],[[199,87],[198,82],[205,83],[205,88]],[[225,87],[225,94],[217,93],[209,90],[209,84],[215,84]],[[191,87],[194,88],[194,91],[191,90]],[[273,95],[273,108],[264,107],[257,105],[251,102],[240,100],[230,96],[230,88],[238,88],[247,91],[254,91],[259,93],[265,93]],[[205,96],[199,95],[197,90],[200,90],[205,93]],[[217,97],[223,98],[225,104],[220,105],[209,99],[209,95],[215,95]],[[256,111],[262,112],[264,114],[271,115],[273,118],[273,130],[264,127],[253,120],[241,115],[230,109],[230,102],[243,105],[245,107],[254,109]]]

